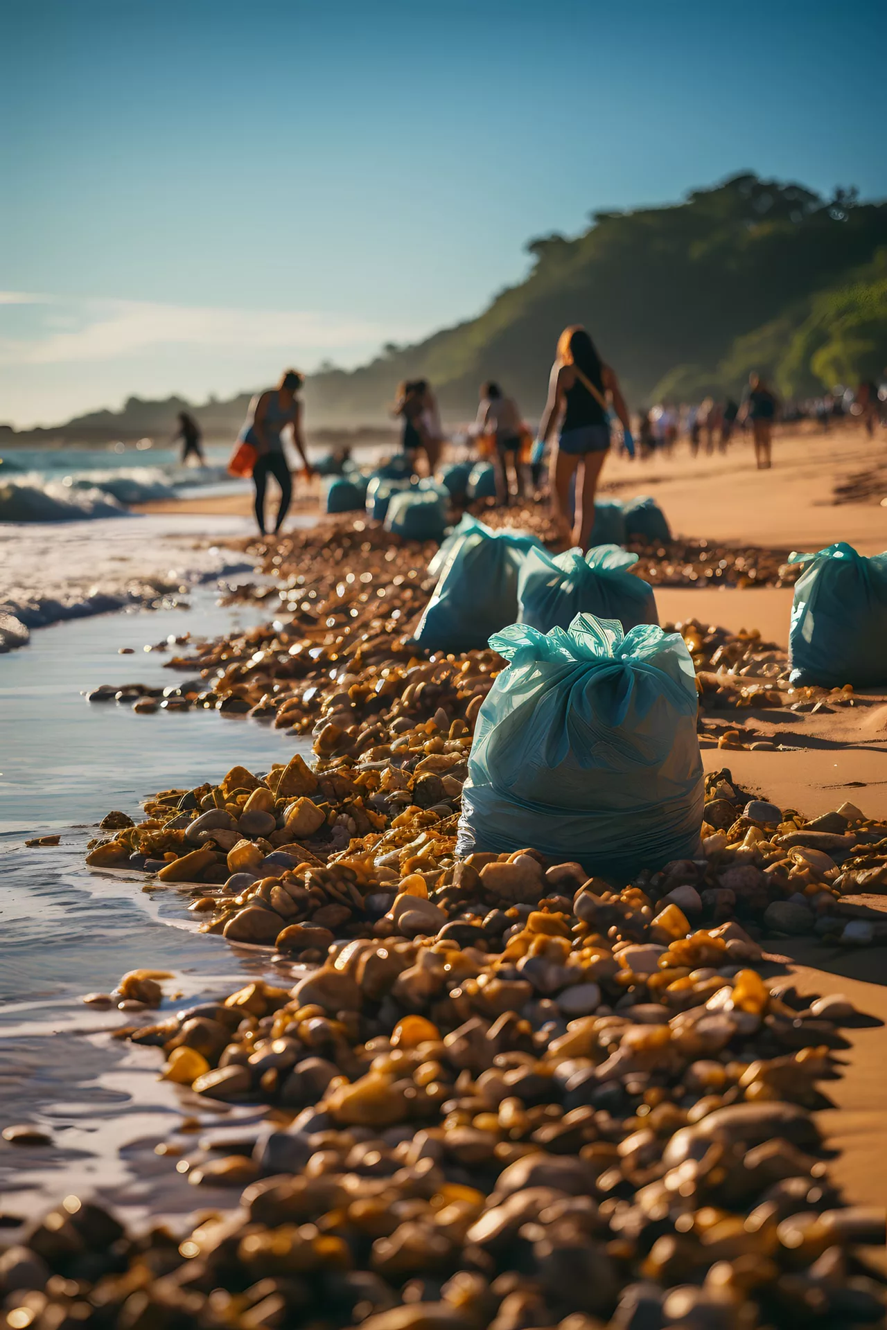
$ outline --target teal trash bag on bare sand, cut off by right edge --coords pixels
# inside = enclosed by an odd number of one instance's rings
[[[791,682],[887,684],[887,552],[864,559],[839,541],[789,563],[805,564],[791,605]]]

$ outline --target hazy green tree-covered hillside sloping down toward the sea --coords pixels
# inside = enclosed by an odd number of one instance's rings
[[[681,203],[596,213],[581,235],[527,246],[529,275],[475,319],[305,387],[314,427],[390,423],[402,379],[427,378],[445,420],[471,419],[479,384],[499,380],[541,412],[561,330],[582,323],[637,410],[661,399],[738,395],[751,370],[783,396],[879,378],[887,366],[887,203],[854,190],[823,200],[801,185],[735,176]],[[53,435],[170,432],[190,410],[207,435],[233,435],[249,394],[193,407],[130,399]]]

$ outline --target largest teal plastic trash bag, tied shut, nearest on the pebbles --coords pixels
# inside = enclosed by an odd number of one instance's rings
[[[524,847],[617,884],[699,851],[697,692],[680,633],[513,624],[475,728],[456,853]]]

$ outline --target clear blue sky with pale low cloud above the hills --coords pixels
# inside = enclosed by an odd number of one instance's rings
[[[882,197],[886,39],[870,0],[0,0],[0,420],[359,363],[742,169]]]

